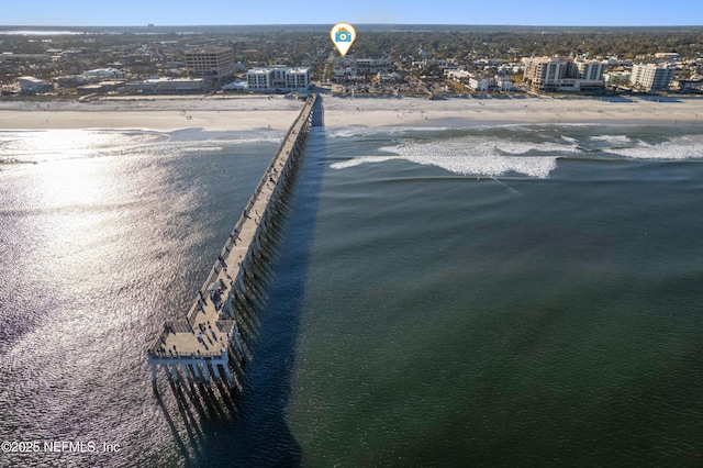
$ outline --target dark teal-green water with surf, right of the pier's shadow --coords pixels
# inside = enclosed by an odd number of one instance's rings
[[[703,463],[700,133],[312,142],[288,411],[304,465]]]

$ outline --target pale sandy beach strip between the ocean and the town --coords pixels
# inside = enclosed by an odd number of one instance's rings
[[[326,126],[459,126],[511,123],[703,125],[703,98],[324,98]],[[122,98],[92,102],[0,101],[0,130],[140,129],[170,132],[284,130],[302,102],[283,97]]]

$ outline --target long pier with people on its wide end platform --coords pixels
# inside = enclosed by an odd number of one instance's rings
[[[245,277],[253,275],[253,256],[261,249],[261,233],[275,216],[272,208],[294,170],[316,99],[317,94],[306,99],[288,130],[185,320],[165,323],[147,350],[153,381],[160,366],[176,381],[185,377],[210,382],[214,378],[234,385],[230,358],[242,358],[243,349],[233,303],[247,294]]]

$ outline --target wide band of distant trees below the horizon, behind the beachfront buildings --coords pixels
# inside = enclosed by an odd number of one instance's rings
[[[470,64],[477,58],[517,60],[521,56],[588,54],[594,56],[617,55],[636,59],[640,55],[657,52],[677,52],[683,58],[703,56],[703,27],[673,29],[556,29],[509,26],[359,26],[358,37],[349,54],[357,57],[391,57],[397,60],[420,58],[426,51],[432,57],[454,59]],[[237,59],[244,63],[276,64],[281,58],[291,65],[311,66],[313,73],[322,74],[327,58],[336,56],[330,41],[328,27],[316,26],[232,26],[220,30],[202,27],[198,31],[123,31],[103,34],[86,31],[68,36],[3,35],[0,53],[43,54],[47,48],[80,49],[82,56],[74,57],[71,64],[53,64],[47,74],[80,67],[104,66],[110,62],[127,62],[148,73],[157,70],[153,63],[125,60],[129,51],[149,44],[163,52],[165,62],[183,59],[183,51],[205,44],[228,45]],[[168,44],[163,47],[161,44]],[[127,57],[129,58],[129,57]],[[130,64],[132,62],[132,64]],[[137,60],[138,62],[138,60]],[[702,60],[703,62],[703,60]],[[0,64],[1,65],[1,64]],[[30,65],[30,64],[27,64]],[[0,67],[2,68],[2,67]],[[44,67],[42,67],[44,68]],[[7,71],[7,70],[4,70]],[[320,75],[317,75],[320,76]]]

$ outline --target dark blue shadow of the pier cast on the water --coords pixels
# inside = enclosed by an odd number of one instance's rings
[[[322,126],[315,110],[313,126]],[[177,409],[159,400],[185,466],[295,467],[302,450],[286,421],[299,321],[324,170],[324,132],[312,129],[275,232],[255,261],[261,283],[244,314],[248,356],[242,389],[171,386]],[[256,316],[252,316],[256,315]],[[225,386],[226,387],[226,386]],[[170,397],[170,395],[169,395]]]

